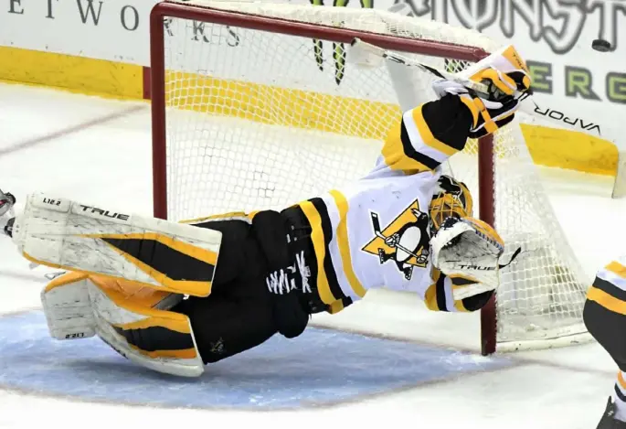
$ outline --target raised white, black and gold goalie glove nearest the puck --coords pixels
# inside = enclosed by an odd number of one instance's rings
[[[493,134],[513,121],[520,102],[532,94],[530,72],[513,46],[502,48],[482,59],[460,76],[487,87],[477,92],[459,81],[439,79],[432,83],[438,97],[458,95],[472,112],[470,138]]]

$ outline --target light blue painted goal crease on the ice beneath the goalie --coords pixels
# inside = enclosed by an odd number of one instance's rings
[[[496,370],[483,358],[325,329],[281,336],[207,367],[198,379],[144,370],[97,338],[48,337],[41,312],[0,317],[0,386],[81,401],[164,407],[281,409],[355,401],[463,373]]]

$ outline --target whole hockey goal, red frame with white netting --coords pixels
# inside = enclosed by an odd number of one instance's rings
[[[366,174],[400,106],[435,95],[432,77],[416,68],[346,62],[354,38],[454,72],[498,48],[472,30],[374,9],[155,5],[154,216],[282,209]],[[483,354],[496,343],[504,351],[589,338],[582,323],[588,279],[537,178],[518,120],[468,142],[446,168],[468,185],[480,218],[502,235],[503,260],[523,250],[482,310]]]

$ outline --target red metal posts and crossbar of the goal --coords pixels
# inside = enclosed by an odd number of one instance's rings
[[[360,38],[380,48],[471,62],[477,62],[489,56],[489,53],[482,48],[455,45],[437,40],[403,38],[349,28],[295,22],[276,17],[255,16],[215,9],[205,5],[183,5],[167,1],[157,3],[150,14],[150,94],[152,100],[153,204],[154,217],[159,219],[167,219],[165,17],[243,27],[345,44],[350,44],[355,38]],[[479,218],[492,226],[495,217],[493,168],[493,137],[489,135],[479,139],[478,142],[478,186],[480,188],[478,207]],[[495,299],[494,294],[481,310],[481,353],[483,356],[492,354],[496,349]]]

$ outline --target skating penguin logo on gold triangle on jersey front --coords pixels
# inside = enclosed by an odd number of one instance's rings
[[[413,267],[424,268],[429,263],[429,216],[419,210],[416,200],[404,209],[384,230],[380,228],[378,213],[370,211],[376,237],[363,251],[378,255],[379,262],[393,261],[404,278],[411,279]]]

